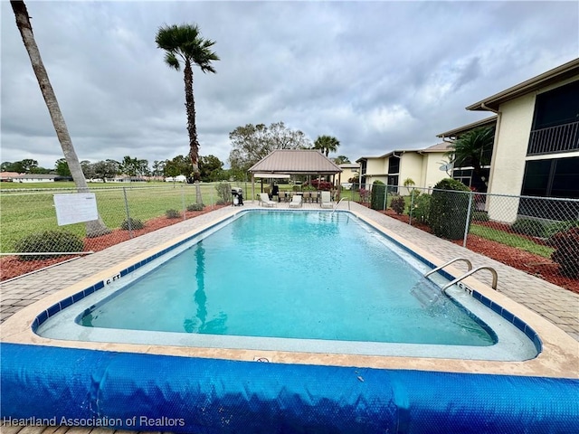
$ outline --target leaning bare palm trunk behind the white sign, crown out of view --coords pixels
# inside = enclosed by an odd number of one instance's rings
[[[52,119],[52,125],[56,130],[56,136],[61,143],[62,153],[64,158],[66,158],[66,163],[69,165],[69,170],[71,171],[72,180],[76,186],[79,193],[89,192],[89,186],[82,173],[81,163],[79,162],[79,157],[76,155],[74,146],[72,146],[71,136],[69,135],[69,130],[66,127],[66,122],[64,122],[64,117],[62,116],[61,108],[58,105],[58,100],[52,90],[51,81],[48,79],[48,72],[44,68],[43,59],[40,56],[40,51],[36,45],[33,34],[33,26],[30,24],[30,17],[28,16],[28,10],[23,1],[10,1],[12,5],[12,10],[16,17],[16,25],[22,36],[24,42],[24,48],[28,52],[30,61],[33,65],[33,71],[36,75],[36,80],[38,80],[38,85],[43,93],[44,102],[46,102],[46,107],[50,113]],[[109,233],[107,226],[102,222],[99,216],[98,220],[87,222],[87,236],[88,237],[98,237],[105,233]]]

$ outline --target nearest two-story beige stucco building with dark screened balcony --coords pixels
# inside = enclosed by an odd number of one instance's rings
[[[467,109],[497,115],[484,119],[496,125],[486,205],[489,217],[500,222],[514,222],[517,215],[563,218],[532,209],[536,208],[529,205],[532,199],[507,201],[492,194],[579,198],[579,59]],[[468,127],[439,137],[452,138]]]

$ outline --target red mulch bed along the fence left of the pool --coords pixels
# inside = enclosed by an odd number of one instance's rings
[[[192,219],[198,215],[204,214],[205,212],[210,212],[218,208],[223,208],[227,205],[214,205],[213,208],[206,207],[204,211],[187,211],[185,212],[185,218]],[[155,219],[147,220],[145,222],[145,227],[139,229],[138,231],[133,231],[133,238],[140,235],[144,235],[148,232],[157,231],[157,229],[165,228],[166,226],[171,226],[183,222],[183,216],[178,219],[167,219],[165,216],[157,217]],[[121,229],[116,229],[111,231],[107,235],[102,235],[96,238],[86,238],[84,240],[84,250],[83,251],[100,251],[105,250],[115,244],[119,244],[122,241],[130,240],[128,236],[128,231],[123,231]],[[23,274],[30,273],[37,269],[43,269],[54,264],[58,264],[65,260],[71,259],[71,256],[62,256],[52,259],[39,259],[39,260],[20,260],[15,256],[7,256],[0,259],[0,281],[7,280],[9,278],[15,278],[17,276],[22,276]]]

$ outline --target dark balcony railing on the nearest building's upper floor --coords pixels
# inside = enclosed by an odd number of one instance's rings
[[[579,121],[531,131],[527,156],[579,149]]]

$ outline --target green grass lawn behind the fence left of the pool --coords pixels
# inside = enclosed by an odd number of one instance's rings
[[[54,193],[66,193],[61,188],[74,191],[73,183],[38,183],[16,184],[19,189],[15,191],[13,185],[2,184],[0,194],[0,251],[14,251],[14,242],[24,236],[39,232],[65,230],[71,231],[84,237],[85,224],[76,223],[66,226],[58,226],[56,211],[52,195]],[[48,184],[59,190],[41,190]],[[216,203],[219,198],[215,190],[215,184],[201,184],[203,202],[205,205]],[[238,184],[232,184],[238,185]],[[251,188],[248,184],[239,184],[246,191]],[[165,216],[167,210],[176,209],[182,211],[191,203],[195,203],[195,185],[192,184],[90,184],[90,189],[97,197],[97,207],[102,220],[109,229],[117,229],[127,219],[125,195],[130,217],[146,222],[148,219]],[[185,200],[185,203],[184,203]]]

